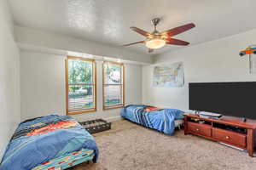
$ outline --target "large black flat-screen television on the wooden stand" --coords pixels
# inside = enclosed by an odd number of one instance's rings
[[[256,82],[190,82],[189,110],[256,119]]]

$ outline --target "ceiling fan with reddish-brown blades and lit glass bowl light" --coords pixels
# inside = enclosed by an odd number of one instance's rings
[[[130,27],[132,31],[136,31],[137,33],[146,37],[146,40],[140,41],[140,42],[128,43],[123,46],[130,46],[130,45],[134,45],[137,43],[144,43],[146,45],[146,47],[148,48],[148,52],[151,53],[154,51],[154,49],[162,48],[166,44],[181,45],[181,46],[189,45],[189,42],[184,42],[182,40],[178,40],[178,39],[175,39],[172,37],[184,32],[184,31],[188,31],[191,28],[194,28],[195,24],[190,23],[190,24],[187,24],[184,26],[178,26],[176,28],[172,28],[171,30],[159,32],[156,30],[156,26],[159,24],[160,18],[155,18],[155,19],[151,20],[151,22],[152,22],[152,25],[154,26],[154,31],[152,33],[148,33],[148,31],[143,31],[142,29],[137,28],[135,26]]]

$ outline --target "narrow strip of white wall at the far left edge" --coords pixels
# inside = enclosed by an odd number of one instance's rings
[[[7,1],[0,0],[0,160],[20,122],[19,49]]]

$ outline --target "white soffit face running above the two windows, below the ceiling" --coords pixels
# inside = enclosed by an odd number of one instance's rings
[[[17,37],[17,42],[23,45],[108,56],[151,64],[151,58],[148,54],[143,54],[142,52],[134,52],[119,46],[107,46],[98,42],[85,41],[49,31],[15,26],[15,36]]]

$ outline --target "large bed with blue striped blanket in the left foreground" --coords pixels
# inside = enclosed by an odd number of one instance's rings
[[[95,140],[79,122],[71,116],[43,116],[20,123],[0,170],[66,169],[97,157]]]

